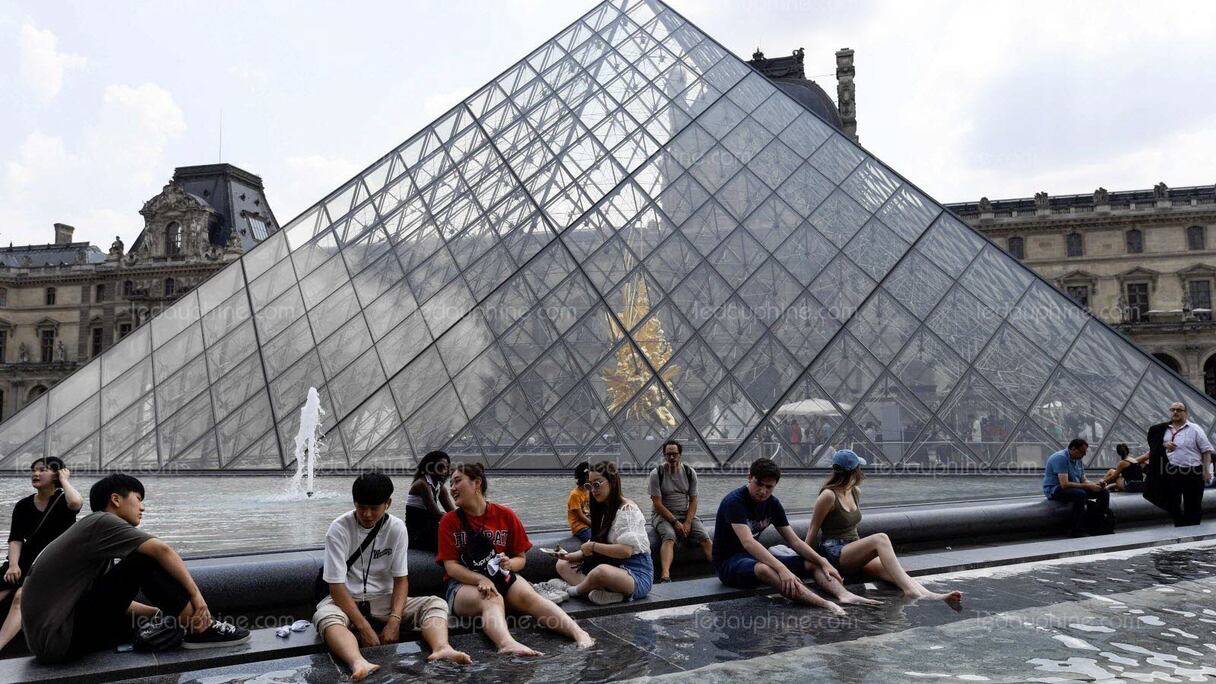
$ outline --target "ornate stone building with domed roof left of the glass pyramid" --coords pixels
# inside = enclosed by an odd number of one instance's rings
[[[278,230],[261,179],[230,164],[178,168],[140,214],[129,250],[64,224],[54,243],[0,248],[0,419]]]

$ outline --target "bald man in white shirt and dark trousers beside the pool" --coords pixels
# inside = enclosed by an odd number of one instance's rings
[[[1212,445],[1204,428],[1187,420],[1187,405],[1170,404],[1165,428],[1166,501],[1176,526],[1199,525],[1203,520],[1204,482],[1212,467]]]

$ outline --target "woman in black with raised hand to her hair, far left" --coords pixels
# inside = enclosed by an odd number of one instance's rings
[[[0,626],[0,650],[21,632],[21,601],[16,599],[16,593],[29,574],[34,559],[72,527],[84,505],[84,498],[72,487],[72,472],[62,459],[36,459],[29,464],[29,473],[34,493],[12,508],[9,560],[0,565],[0,607],[6,601],[9,604]]]

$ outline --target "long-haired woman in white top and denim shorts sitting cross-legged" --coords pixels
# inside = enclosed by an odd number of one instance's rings
[[[558,549],[557,573],[572,596],[585,595],[597,605],[646,596],[654,583],[651,539],[642,510],[620,492],[617,464],[591,466],[586,489],[591,492],[591,540],[574,553]]]

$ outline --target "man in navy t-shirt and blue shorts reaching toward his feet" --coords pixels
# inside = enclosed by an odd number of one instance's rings
[[[798,538],[789,526],[786,509],[772,494],[781,480],[781,467],[770,459],[756,459],[748,471],[748,483],[722,498],[714,526],[714,570],[727,587],[750,589],[769,584],[786,598],[844,613],[835,602],[811,592],[800,574],[810,573],[815,582],[841,604],[877,604],[849,592],[840,572]],[[770,525],[777,528],[794,555],[772,554],[759,542]]]

